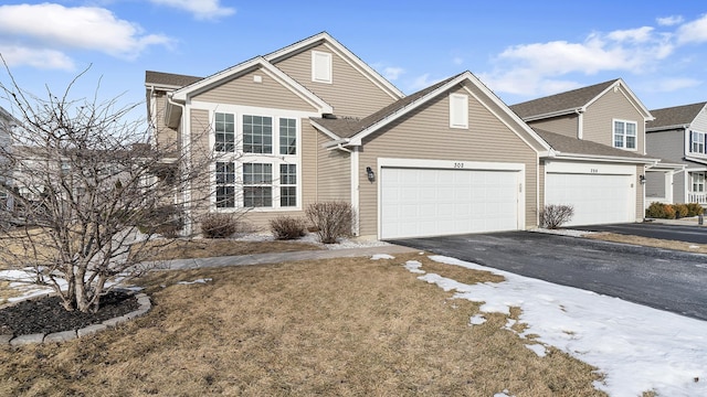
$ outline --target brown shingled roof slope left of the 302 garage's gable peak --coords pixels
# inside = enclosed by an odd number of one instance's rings
[[[412,105],[416,100],[424,98],[428,94],[444,86],[445,84],[461,76],[462,74],[443,79],[442,82],[433,84],[428,88],[421,89],[414,94],[411,94],[411,95],[408,95],[407,97],[398,99],[394,103],[373,112],[372,115],[369,115],[361,119],[348,118],[348,117],[344,117],[344,118],[313,117],[312,120],[315,121],[317,125],[326,128],[328,131],[336,133],[339,138],[351,138],[358,132],[367,129],[368,127],[386,119],[387,117],[394,115],[395,112]]]

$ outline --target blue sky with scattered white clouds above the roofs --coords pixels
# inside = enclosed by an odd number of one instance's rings
[[[145,71],[207,76],[321,31],[405,94],[471,71],[506,104],[621,77],[648,109],[707,100],[707,4],[568,1],[3,1],[18,84],[144,100]],[[7,72],[0,82],[9,83]],[[0,101],[7,107],[7,103]]]

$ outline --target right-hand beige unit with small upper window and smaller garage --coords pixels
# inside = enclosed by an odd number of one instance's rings
[[[651,112],[621,79],[510,107],[551,147],[539,162],[539,203],[568,204],[568,225],[639,222],[644,217],[645,122]]]

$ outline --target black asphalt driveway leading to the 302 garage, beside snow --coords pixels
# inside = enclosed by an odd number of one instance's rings
[[[532,232],[390,243],[707,320],[707,255]]]

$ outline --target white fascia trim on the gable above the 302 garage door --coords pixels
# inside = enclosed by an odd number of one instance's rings
[[[380,128],[393,122],[394,120],[398,120],[399,118],[408,115],[410,111],[436,98],[440,94],[447,92],[450,88],[463,84],[464,82],[468,82],[476,88],[481,89],[486,95],[486,97],[492,103],[494,103],[498,109],[500,109],[500,111],[505,111],[506,115],[515,121],[516,127],[518,128],[515,131],[517,132],[518,130],[524,130],[534,141],[532,143],[530,143],[526,140],[529,146],[534,147],[536,150],[550,150],[550,147],[542,139],[540,139],[540,137],[538,137],[535,131],[530,129],[530,127],[528,127],[527,124],[518,118],[516,114],[510,111],[506,104],[504,104],[490,89],[488,89],[488,87],[486,87],[478,78],[476,78],[476,76],[474,76],[468,71],[446,78],[442,82],[431,85],[428,88],[421,89],[412,95],[399,99],[393,104],[386,106],[379,111],[360,120],[314,117],[310,118],[310,121],[317,129],[321,130],[334,139],[334,141],[329,142],[327,146],[360,146],[363,138],[378,131]],[[525,140],[525,138],[523,139]]]

